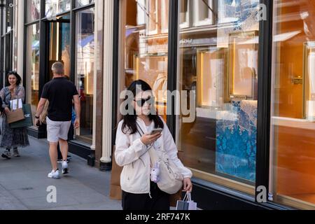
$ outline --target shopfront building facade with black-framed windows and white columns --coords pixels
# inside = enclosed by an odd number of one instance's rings
[[[314,0],[1,1],[1,77],[18,70],[35,111],[63,62],[82,106],[70,150],[103,170],[120,93],[143,79],[202,209],[315,209],[314,15]]]

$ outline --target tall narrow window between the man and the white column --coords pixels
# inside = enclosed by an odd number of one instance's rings
[[[76,139],[92,144],[94,97],[94,8],[76,14],[76,86],[80,94],[80,129]]]

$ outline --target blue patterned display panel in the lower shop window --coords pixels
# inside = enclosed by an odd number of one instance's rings
[[[216,172],[255,182],[257,101],[234,101],[218,113]]]

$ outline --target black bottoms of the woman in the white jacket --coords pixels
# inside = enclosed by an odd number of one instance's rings
[[[149,194],[132,194],[123,191],[123,210],[162,210],[169,211],[169,194],[151,182],[151,197]]]

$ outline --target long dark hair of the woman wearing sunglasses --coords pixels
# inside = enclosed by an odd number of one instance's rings
[[[130,92],[132,92],[132,94],[134,95],[134,97],[136,97],[137,94],[137,87],[141,87],[142,91],[152,91],[150,85],[148,85],[148,83],[146,83],[144,80],[135,80],[130,87],[128,87],[127,90],[129,90]],[[126,96],[127,100],[128,96]],[[128,110],[128,105],[126,106],[126,109]],[[122,127],[122,131],[125,134],[134,134],[137,132],[137,113],[136,111],[134,111],[133,114],[127,114],[125,116],[123,116],[123,127]],[[155,124],[155,128],[164,128],[164,123],[162,121],[162,119],[160,118],[160,116],[158,115],[152,115],[150,114],[148,116],[148,118],[154,122]]]

